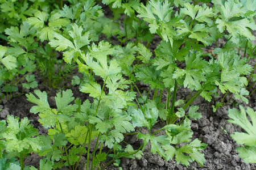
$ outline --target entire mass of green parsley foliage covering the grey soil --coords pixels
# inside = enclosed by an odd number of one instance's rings
[[[56,94],[57,108],[51,108],[46,92],[35,90],[34,94],[27,94],[28,101],[36,104],[30,112],[39,114],[39,122],[48,129],[48,135],[38,136],[27,118],[19,122],[18,118],[8,117],[7,126],[1,121],[0,148],[5,151],[3,155],[1,152],[0,163],[33,170],[34,167],[24,168],[23,160],[35,152],[45,157],[40,160],[40,169],[63,166],[77,169],[85,154],[86,169],[90,161],[90,168],[104,169],[113,162],[119,165],[123,157],[140,159],[150,142],[151,152],[158,152],[166,160],[175,157],[178,164],[188,166],[196,161],[203,165],[204,154],[200,151],[207,145],[191,139],[191,118],[201,118],[201,113],[197,112],[199,107],[191,103],[199,96],[211,101],[217,90],[225,94],[224,97],[231,92],[236,99],[248,103],[246,86],[256,77],[253,74],[256,66],[253,69],[248,64],[250,58],[255,57],[252,42],[255,37],[251,34],[251,30],[256,29],[253,1],[212,1],[213,7],[189,0],[151,0],[146,4],[102,1],[112,10],[113,18],[105,18],[101,6],[93,0],[69,0],[69,6],[61,9],[60,1],[52,10],[44,6],[51,5],[50,2],[40,6],[41,1],[30,2],[35,5],[23,7],[27,1],[12,2],[21,4],[24,10],[16,12],[24,17],[22,22],[18,19],[14,24],[17,26],[5,29],[10,46],[0,46],[0,84],[5,85],[2,91],[11,96],[12,91],[18,90],[19,75],[27,80],[22,84],[24,88],[36,87],[32,75],[35,70],[48,86],[58,87],[77,66],[84,77],[75,76],[72,84],[80,84],[80,91],[89,94],[93,101],[82,102],[73,97],[71,90],[65,90]],[[180,10],[174,13],[174,6]],[[10,17],[15,19],[15,15]],[[152,53],[148,46],[155,35],[162,40]],[[102,38],[108,41],[99,41]],[[218,40],[223,38],[226,44],[218,46]],[[113,39],[119,40],[119,44],[112,45]],[[204,53],[203,49],[213,44],[217,48]],[[58,58],[55,50],[63,56]],[[96,76],[100,79],[98,82]],[[148,84],[148,90],[139,91],[138,82]],[[191,90],[185,100],[176,99],[180,87]],[[163,91],[167,92],[166,99]],[[213,109],[224,105],[222,101]],[[235,112],[238,115],[238,111],[232,110],[230,116],[240,125],[241,121],[232,117]],[[253,119],[252,112],[247,113]],[[158,118],[166,125],[153,130]],[[134,133],[136,127],[146,127],[148,133]],[[250,138],[250,129],[254,127],[242,128]],[[162,130],[166,135],[158,135]],[[123,142],[125,135],[130,134],[143,141],[137,150]],[[95,146],[92,139],[96,139]],[[10,146],[14,141],[17,145]],[[21,143],[24,147],[15,147]],[[254,151],[252,143],[240,144],[246,147],[238,150],[242,158],[245,152]],[[108,152],[102,152],[104,145],[109,148]],[[7,159],[6,153],[19,158],[19,163]],[[108,157],[112,160],[105,162]]]

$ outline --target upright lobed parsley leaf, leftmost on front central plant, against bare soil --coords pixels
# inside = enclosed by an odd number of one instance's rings
[[[39,97],[39,99],[36,98],[32,93],[26,94],[28,101],[37,104],[31,107],[30,112],[36,114],[39,112],[42,113],[47,109],[50,109],[46,92],[41,92],[40,90],[35,90],[34,92]]]

